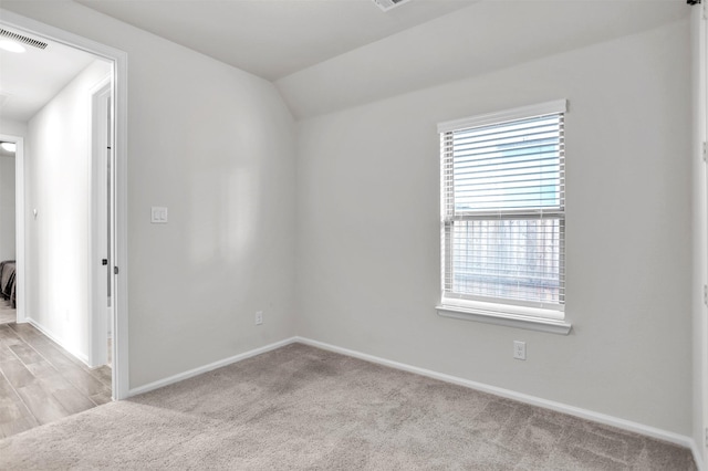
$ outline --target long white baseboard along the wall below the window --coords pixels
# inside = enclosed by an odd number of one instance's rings
[[[575,406],[569,406],[566,404],[556,402],[552,400],[542,399],[539,397],[525,395],[522,393],[517,393],[510,389],[499,388],[496,386],[486,385],[482,383],[472,381],[465,378],[459,378],[457,376],[446,375],[442,373],[433,371],[430,369],[418,368],[417,366],[406,365],[398,362],[393,362],[386,358],[381,358],[377,356],[364,354],[356,350],[351,350],[348,348],[337,347],[335,345],[325,344],[317,341],[312,341],[310,338],[304,337],[295,337],[295,342],[301,344],[310,345],[316,348],[322,348],[330,352],[335,352],[342,355],[347,355],[354,358],[360,358],[366,362],[375,363],[378,365],[388,366],[395,369],[400,369],[404,371],[415,373],[417,375],[427,376],[429,378],[439,379],[445,383],[450,383],[458,386],[465,386],[471,389],[477,389],[483,393],[489,393],[496,396],[501,396],[508,399],[514,399],[520,402],[529,404],[531,406],[542,407],[544,409],[555,410],[558,412],[568,414],[570,416],[580,417],[582,419],[592,420],[594,422],[604,423],[606,426],[616,427],[623,430],[628,430],[635,433],[641,433],[644,436],[648,436],[652,438],[656,438],[659,440],[668,441],[670,443],[679,444],[681,447],[688,448],[693,451],[694,456],[697,456],[697,448],[691,438],[674,433],[670,431],[662,430],[655,427],[645,426],[643,423],[633,422],[629,420],[621,419],[613,416],[607,416],[605,414],[594,412],[592,410],[582,409]],[[702,463],[701,463],[702,464]],[[700,465],[697,461],[697,465]],[[699,470],[701,468],[699,467]]]

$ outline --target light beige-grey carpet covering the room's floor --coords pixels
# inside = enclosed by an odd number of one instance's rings
[[[684,448],[293,344],[0,441],[0,469],[694,470]]]

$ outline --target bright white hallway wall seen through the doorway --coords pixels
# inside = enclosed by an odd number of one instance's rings
[[[91,314],[91,90],[110,73],[110,63],[95,61],[28,123],[27,316],[84,362]]]

